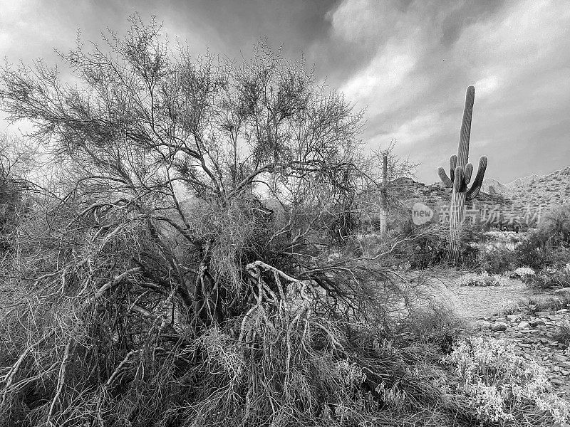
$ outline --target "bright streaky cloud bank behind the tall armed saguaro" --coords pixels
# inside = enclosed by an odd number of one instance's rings
[[[331,12],[331,38],[375,44],[341,81],[349,99],[368,107],[365,139],[396,137],[400,152],[423,162],[420,179],[435,181],[439,163],[455,152],[465,88],[474,84],[472,161],[487,154],[489,175],[504,180],[567,166],[568,159],[552,164],[541,151],[568,144],[568,134],[552,130],[569,127],[570,8],[554,1],[448,5],[345,0]]]

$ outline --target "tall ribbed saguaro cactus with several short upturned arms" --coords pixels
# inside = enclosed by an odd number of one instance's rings
[[[469,138],[474,101],[475,88],[470,86],[465,95],[465,109],[463,110],[457,156],[454,154],[450,157],[450,176],[447,176],[442,167],[437,169],[437,174],[439,174],[443,184],[448,188],[453,188],[450,206],[450,246],[447,251],[447,258],[452,263],[457,263],[457,256],[459,255],[461,226],[465,218],[465,201],[477,197],[481,190],[485,169],[487,169],[487,157],[483,156],[479,159],[477,176],[475,176],[471,188],[467,189],[467,184],[471,181],[473,173],[473,165],[467,161],[469,160]]]

